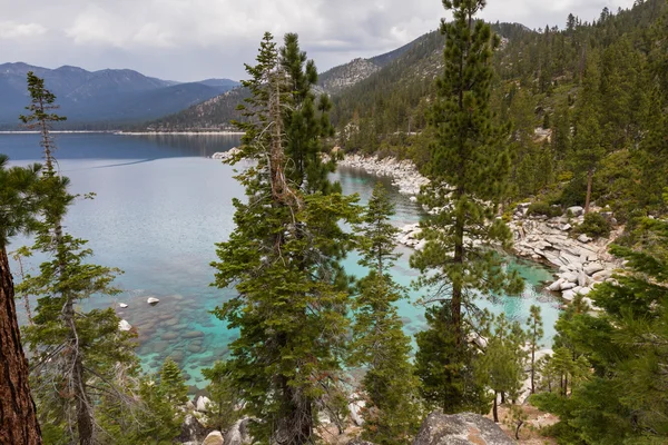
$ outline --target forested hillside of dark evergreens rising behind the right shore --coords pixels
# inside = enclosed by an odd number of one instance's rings
[[[511,199],[584,205],[591,178],[591,200],[619,210],[622,219],[636,201],[658,205],[667,181],[656,171],[666,157],[652,151],[650,138],[665,115],[665,1],[650,0],[615,13],[605,9],[591,22],[569,16],[561,30],[493,27],[504,39],[493,58],[491,106],[498,121],[513,127]],[[426,34],[334,96],[332,117],[346,150],[419,165],[429,159],[423,130],[442,48],[442,36]]]

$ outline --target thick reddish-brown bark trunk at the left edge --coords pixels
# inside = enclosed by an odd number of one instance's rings
[[[0,443],[41,444],[35,402],[30,395],[28,360],[21,347],[14,290],[7,250],[0,251]]]

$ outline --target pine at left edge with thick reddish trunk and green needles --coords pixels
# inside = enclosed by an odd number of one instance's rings
[[[0,443],[32,445],[41,444],[42,437],[30,393],[7,246],[11,237],[30,231],[37,224],[40,166],[8,168],[7,162],[7,156],[0,155]]]

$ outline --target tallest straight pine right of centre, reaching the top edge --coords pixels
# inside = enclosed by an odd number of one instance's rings
[[[463,390],[478,392],[473,389],[477,385],[462,382],[470,366],[455,362],[471,356],[465,350],[462,309],[474,306],[478,293],[512,294],[522,287],[515,274],[504,274],[501,258],[491,248],[508,246],[511,238],[508,227],[495,218],[510,166],[503,147],[508,128],[492,125],[489,108],[491,57],[499,38],[474,19],[484,3],[443,2],[454,20],[441,24],[444,72],[438,79],[438,98],[430,112],[435,130],[426,167],[431,182],[421,196],[423,204],[438,211],[422,222],[426,245],[411,258],[411,266],[422,273],[419,285],[431,289],[425,300],[440,306],[428,312],[428,332],[445,329],[418,337],[418,373],[423,393],[431,394],[429,398],[449,413],[471,399]],[[441,369],[443,378],[438,383],[432,368]],[[438,397],[442,398],[436,402]]]

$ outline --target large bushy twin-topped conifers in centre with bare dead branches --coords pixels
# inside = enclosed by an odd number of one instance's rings
[[[357,214],[315,156],[325,125],[302,125],[324,119],[322,107],[304,116],[316,80],[304,59],[295,36],[279,52],[267,33],[257,65],[246,66],[253,96],[235,160],[255,164],[237,176],[248,201],[234,201],[237,227],[214,264],[216,285],[237,290],[216,315],[239,329],[228,366],[246,413],[264,421],[254,437],[291,445],[315,439],[318,402],[341,372],[350,281],[340,260],[353,237],[340,222]]]

